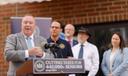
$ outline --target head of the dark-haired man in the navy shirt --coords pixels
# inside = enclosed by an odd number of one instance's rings
[[[51,28],[50,28],[50,32],[51,32],[51,36],[52,37],[58,37],[60,32],[62,31],[61,27],[60,27],[60,23],[58,22],[52,22],[51,24]]]

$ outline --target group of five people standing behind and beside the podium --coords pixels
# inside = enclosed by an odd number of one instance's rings
[[[125,47],[119,32],[112,34],[111,47],[105,51],[100,66],[98,48],[88,41],[91,34],[87,28],[81,27],[76,39],[73,24],[65,25],[64,36],[60,36],[62,24],[59,21],[52,21],[48,39],[36,34],[35,28],[35,18],[32,15],[25,15],[21,23],[21,32],[7,36],[4,49],[5,59],[9,62],[7,76],[15,76],[18,67],[35,57],[83,59],[85,72],[69,76],[96,76],[99,68],[102,69],[104,76],[128,75],[128,48]],[[60,47],[46,49],[45,46],[40,46],[48,43]]]

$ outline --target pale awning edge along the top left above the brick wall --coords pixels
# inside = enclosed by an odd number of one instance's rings
[[[51,0],[0,0],[0,5],[25,3],[25,2],[32,3],[32,2],[42,2],[42,1],[51,1]]]

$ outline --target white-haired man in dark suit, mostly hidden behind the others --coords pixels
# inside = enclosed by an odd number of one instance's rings
[[[77,40],[73,39],[75,33],[75,27],[72,24],[67,24],[64,28],[65,40],[69,42],[71,47],[78,44]]]

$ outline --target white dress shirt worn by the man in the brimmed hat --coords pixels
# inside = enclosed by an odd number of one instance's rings
[[[80,45],[81,44],[78,43],[77,45],[72,47],[74,58],[78,58],[81,47]],[[89,71],[88,76],[95,76],[99,69],[98,49],[95,45],[89,42],[85,42],[83,45],[83,59],[85,63],[85,70]]]

